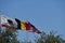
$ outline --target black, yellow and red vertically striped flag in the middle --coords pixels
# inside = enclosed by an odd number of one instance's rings
[[[15,20],[17,23],[17,29],[30,30],[31,26],[27,22],[22,22],[17,18],[15,18]]]

